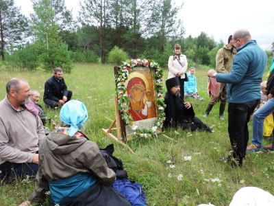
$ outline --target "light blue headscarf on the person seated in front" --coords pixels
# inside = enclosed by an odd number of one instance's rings
[[[83,123],[88,119],[88,111],[83,102],[78,100],[70,100],[61,108],[60,119],[64,124],[68,124],[69,136],[73,137],[78,130],[78,127],[84,127]]]

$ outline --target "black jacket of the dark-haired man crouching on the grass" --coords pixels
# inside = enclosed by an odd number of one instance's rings
[[[68,89],[64,78],[56,80],[56,78],[52,76],[45,83],[44,100],[49,99],[58,102],[62,100],[63,96],[68,96]]]

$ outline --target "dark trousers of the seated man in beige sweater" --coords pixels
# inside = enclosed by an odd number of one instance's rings
[[[1,176],[0,180],[5,183],[11,183],[16,178],[29,176],[35,178],[38,172],[38,164],[36,163],[12,163],[5,161],[0,165]]]

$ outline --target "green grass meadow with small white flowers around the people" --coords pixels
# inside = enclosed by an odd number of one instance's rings
[[[197,68],[195,76],[198,92],[205,101],[189,99],[197,117],[206,110],[210,98],[207,95],[206,69]],[[43,95],[45,81],[51,73],[43,71],[8,72],[0,71],[0,97],[5,97],[5,84],[10,78],[25,78],[31,89]],[[72,73],[64,73],[64,80],[73,91],[73,99],[84,102],[88,109],[85,134],[99,147],[114,143],[114,156],[123,159],[129,180],[142,185],[147,205],[199,205],[212,203],[216,206],[229,205],[234,193],[241,187],[256,186],[274,194],[273,154],[247,154],[242,168],[232,168],[219,159],[228,155],[229,137],[227,133],[227,109],[225,121],[219,120],[219,104],[212,113],[202,119],[214,128],[214,133],[190,133],[182,130],[166,130],[165,135],[153,139],[134,139],[127,143],[128,148],[106,136],[101,128],[109,128],[114,119],[114,70],[112,65],[76,64]],[[167,70],[164,71],[164,79]],[[264,78],[265,80],[266,78]],[[188,99],[186,99],[188,100]],[[44,106],[42,98],[40,104]],[[60,122],[59,111],[45,108],[47,116]],[[107,117],[107,118],[106,118]],[[52,128],[51,128],[52,129]],[[252,124],[249,123],[249,139],[252,137]],[[263,144],[269,144],[264,139]],[[0,205],[19,205],[25,201],[34,188],[34,182],[18,180],[12,185],[0,184]],[[43,205],[49,205],[47,200]]]

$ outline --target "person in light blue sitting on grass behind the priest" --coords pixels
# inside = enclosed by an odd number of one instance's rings
[[[187,73],[188,82],[184,82],[184,96],[186,98],[190,97],[198,100],[204,100],[197,93],[197,81],[194,74],[195,74],[195,67],[190,67]]]

